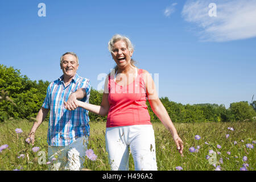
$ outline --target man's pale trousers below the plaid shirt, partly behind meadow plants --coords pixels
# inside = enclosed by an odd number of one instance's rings
[[[49,170],[79,171],[83,168],[88,137],[77,138],[69,146],[48,146]],[[55,158],[56,160],[52,160]]]

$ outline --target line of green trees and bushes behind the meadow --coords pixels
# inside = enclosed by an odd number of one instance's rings
[[[21,75],[18,69],[0,64],[0,122],[10,118],[33,120],[46,97],[49,81],[32,81]],[[100,105],[102,93],[95,89],[90,92],[90,104]],[[224,105],[194,104],[182,105],[161,97],[164,107],[173,122],[230,122],[255,121],[256,101],[233,102],[228,109]],[[147,101],[151,121],[159,119]],[[89,112],[91,121],[105,121],[106,117]]]

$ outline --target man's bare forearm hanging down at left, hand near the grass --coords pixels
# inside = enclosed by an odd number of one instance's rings
[[[38,112],[38,115],[36,115],[36,121],[34,122],[34,125],[32,126],[32,128],[30,130],[30,134],[28,135],[28,137],[30,137],[30,139],[31,139],[32,144],[34,144],[34,142],[35,142],[36,129],[38,129],[38,127],[44,121],[44,119],[46,118],[46,116],[48,114],[48,111],[49,111],[49,109],[41,107],[41,109]]]

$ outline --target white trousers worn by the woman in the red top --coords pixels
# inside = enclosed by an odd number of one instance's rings
[[[152,125],[106,128],[106,151],[113,171],[129,170],[129,147],[136,171],[156,171],[155,135]]]

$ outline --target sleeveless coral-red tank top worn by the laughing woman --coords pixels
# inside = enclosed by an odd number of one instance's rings
[[[109,113],[106,127],[152,125],[147,110],[146,85],[142,69],[133,82],[126,86],[115,83],[109,76]]]

